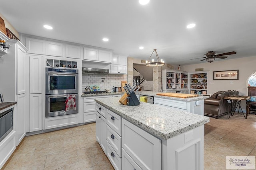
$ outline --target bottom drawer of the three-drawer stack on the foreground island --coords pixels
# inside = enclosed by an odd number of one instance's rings
[[[114,149],[110,146],[108,141],[107,141],[106,155],[108,156],[108,159],[110,160],[110,162],[111,162],[112,166],[115,168],[115,170],[121,170],[121,158],[114,151]]]

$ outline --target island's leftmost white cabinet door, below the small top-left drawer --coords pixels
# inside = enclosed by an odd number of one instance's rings
[[[106,154],[106,118],[96,111],[96,140]]]

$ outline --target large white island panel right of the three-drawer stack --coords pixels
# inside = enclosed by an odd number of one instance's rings
[[[122,148],[140,168],[162,169],[161,140],[125,119],[122,119]]]

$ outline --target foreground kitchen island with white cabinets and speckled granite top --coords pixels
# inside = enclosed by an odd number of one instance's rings
[[[96,138],[115,169],[204,169],[208,117],[144,102],[126,106],[118,100],[95,99],[100,119],[96,117]]]

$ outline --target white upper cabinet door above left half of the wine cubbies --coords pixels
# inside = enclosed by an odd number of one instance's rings
[[[46,55],[63,57],[63,44],[46,41]]]

